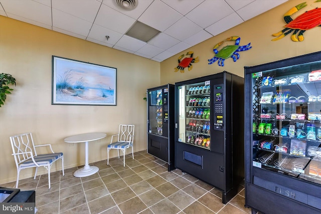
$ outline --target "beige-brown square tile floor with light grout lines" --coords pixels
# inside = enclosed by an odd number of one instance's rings
[[[219,213],[244,214],[244,186],[227,204],[222,193],[213,186],[179,169],[167,171],[167,164],[148,154],[135,152],[134,160],[122,157],[91,163],[99,167],[98,173],[87,177],[74,177],[77,167],[51,173],[34,180],[19,181],[21,190],[36,190],[36,207],[39,214],[50,213]],[[82,166],[79,166],[82,167]],[[23,173],[23,171],[22,171]],[[0,184],[14,187],[16,182]]]

